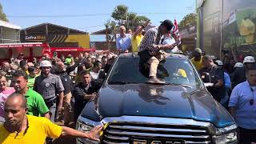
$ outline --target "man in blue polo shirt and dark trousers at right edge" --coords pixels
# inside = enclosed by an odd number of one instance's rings
[[[239,126],[240,143],[256,142],[256,64],[246,68],[246,82],[234,87],[229,108]]]

